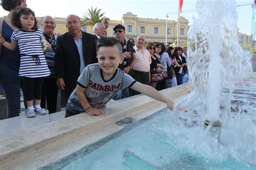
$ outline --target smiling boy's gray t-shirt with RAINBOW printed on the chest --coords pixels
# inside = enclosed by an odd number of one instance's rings
[[[109,81],[105,81],[98,63],[85,67],[77,80],[77,84],[85,88],[84,94],[93,108],[104,107],[119,90],[131,87],[135,82],[119,68]],[[73,114],[85,112],[76,95],[76,89],[70,95],[66,109]]]

